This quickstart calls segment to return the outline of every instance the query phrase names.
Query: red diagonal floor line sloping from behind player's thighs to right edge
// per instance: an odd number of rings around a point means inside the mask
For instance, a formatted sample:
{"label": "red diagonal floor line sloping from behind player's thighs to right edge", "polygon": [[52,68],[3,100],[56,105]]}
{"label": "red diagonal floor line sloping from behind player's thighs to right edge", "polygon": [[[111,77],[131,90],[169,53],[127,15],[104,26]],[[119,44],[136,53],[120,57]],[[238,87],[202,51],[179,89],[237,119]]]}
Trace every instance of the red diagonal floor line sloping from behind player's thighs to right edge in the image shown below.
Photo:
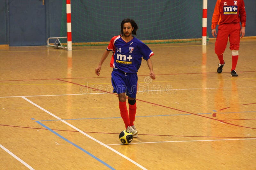
{"label": "red diagonal floor line sloping from behind player's thighs to right edge", "polygon": [[[69,83],[76,84],[76,85],[79,85],[79,86],[84,86],[84,87],[87,87],[87,88],[90,88],[90,89],[95,89],[95,88],[91,88],[91,87],[88,87],[88,86],[85,86],[85,85],[82,85],[82,84],[78,84],[78,83],[74,83],[74,82],[71,82],[71,81],[66,81],[66,80],[61,80],[61,79],[57,79],[57,80],[69,82]],[[99,91],[102,91],[102,92],[105,92],[105,93],[109,93],[109,94],[115,94],[115,95],[117,95],[116,93],[111,93],[111,92],[104,91],[104,90],[100,90],[100,89],[96,89],[96,90],[99,90]],[[164,105],[161,105],[161,104],[156,104],[156,103],[148,102],[148,101],[145,101],[145,100],[140,100],[140,99],[137,99],[137,98],[136,98],[136,100],[137,100],[137,101],[144,102],[144,103],[149,103],[149,104],[151,104],[151,105],[157,105],[157,106],[161,106],[161,107],[164,107],[164,108],[168,108],[168,109],[177,110],[177,111],[180,111],[180,112],[189,113],[189,114],[192,114],[192,115],[196,115],[196,116],[200,116],[200,117],[205,117],[205,118],[212,119],[212,120],[217,120],[217,121],[219,121],[219,122],[222,122],[222,123],[225,123],[225,124],[230,124],[230,125],[233,125],[233,126],[244,127],[244,128],[249,128],[249,129],[256,129],[256,128],[252,128],[252,127],[246,127],[246,126],[240,126],[240,125],[237,125],[237,124],[231,124],[231,123],[224,122],[224,121],[222,121],[222,120],[218,120],[218,119],[215,119],[215,118],[212,118],[212,117],[207,117],[207,116],[203,116],[203,115],[198,115],[198,114],[196,114],[196,113],[191,113],[191,112],[188,112],[188,111],[175,109],[175,108],[168,107],[168,106],[164,106]]]}

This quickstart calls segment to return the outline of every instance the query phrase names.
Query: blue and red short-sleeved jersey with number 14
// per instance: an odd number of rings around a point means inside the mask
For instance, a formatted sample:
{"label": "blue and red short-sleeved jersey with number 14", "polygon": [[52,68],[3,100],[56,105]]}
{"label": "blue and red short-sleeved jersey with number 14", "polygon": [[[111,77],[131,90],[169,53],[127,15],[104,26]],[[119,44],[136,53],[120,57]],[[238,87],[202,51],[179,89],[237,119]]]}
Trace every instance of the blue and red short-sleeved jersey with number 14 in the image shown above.
{"label": "blue and red short-sleeved jersey with number 14", "polygon": [[152,50],[136,37],[126,43],[121,38],[121,35],[115,36],[110,40],[107,50],[113,52],[110,67],[126,73],[137,73],[142,57],[144,60],[148,60],[154,55]]}

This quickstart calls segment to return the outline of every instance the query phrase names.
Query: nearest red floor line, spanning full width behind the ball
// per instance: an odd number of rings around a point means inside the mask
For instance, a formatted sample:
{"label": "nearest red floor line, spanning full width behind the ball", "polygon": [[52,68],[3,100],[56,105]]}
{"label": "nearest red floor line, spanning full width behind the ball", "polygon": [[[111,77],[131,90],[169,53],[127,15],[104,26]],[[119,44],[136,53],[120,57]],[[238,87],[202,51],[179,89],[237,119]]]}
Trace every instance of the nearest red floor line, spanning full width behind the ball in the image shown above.
{"label": "nearest red floor line, spanning full width behind the ball", "polygon": [[[33,127],[24,127],[24,126],[12,126],[6,124],[0,124],[0,126],[8,126],[8,127],[17,127],[17,128],[26,128],[26,129],[40,129],[40,130],[48,130],[44,128],[33,128]],[[79,132],[79,131],[70,131],[70,130],[61,130],[61,129],[52,129],[53,131],[68,131],[68,132]],[[107,133],[107,132],[90,132],[84,131],[85,133],[101,133],[101,134],[119,134],[119,133]],[[140,134],[147,136],[172,136],[172,137],[198,137],[198,138],[256,138],[256,137],[230,137],[230,136],[184,136],[184,135],[154,135],[154,134]]]}

